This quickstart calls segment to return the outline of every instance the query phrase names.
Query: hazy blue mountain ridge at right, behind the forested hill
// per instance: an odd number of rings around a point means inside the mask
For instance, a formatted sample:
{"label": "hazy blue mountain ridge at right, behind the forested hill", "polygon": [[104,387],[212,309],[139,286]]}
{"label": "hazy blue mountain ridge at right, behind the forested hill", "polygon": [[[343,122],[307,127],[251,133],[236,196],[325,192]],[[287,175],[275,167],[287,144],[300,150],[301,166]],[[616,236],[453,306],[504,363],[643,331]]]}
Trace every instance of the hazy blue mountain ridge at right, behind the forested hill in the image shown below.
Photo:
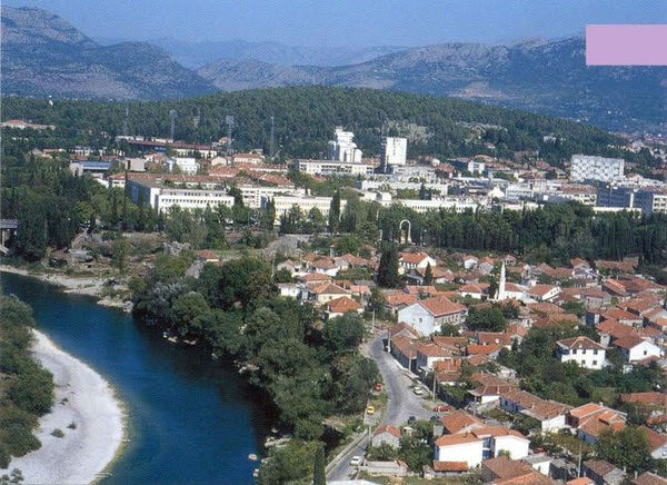
{"label": "hazy blue mountain ridge at right, behind the forested hill", "polygon": [[217,61],[197,71],[223,90],[292,85],[348,86],[455,96],[613,130],[667,132],[667,68],[587,67],[585,41],[511,47],[444,43],[342,67]]}

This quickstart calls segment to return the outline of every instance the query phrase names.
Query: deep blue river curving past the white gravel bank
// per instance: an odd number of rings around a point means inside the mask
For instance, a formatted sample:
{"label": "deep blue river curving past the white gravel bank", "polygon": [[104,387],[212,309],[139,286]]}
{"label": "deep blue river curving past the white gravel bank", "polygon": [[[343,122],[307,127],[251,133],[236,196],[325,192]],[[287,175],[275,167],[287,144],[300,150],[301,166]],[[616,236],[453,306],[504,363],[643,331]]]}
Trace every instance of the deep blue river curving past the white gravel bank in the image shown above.
{"label": "deep blue river curving past the white gravel bank", "polygon": [[38,328],[100,373],[128,412],[130,442],[104,484],[250,484],[270,426],[251,388],[205,353],[158,338],[122,311],[1,274]]}

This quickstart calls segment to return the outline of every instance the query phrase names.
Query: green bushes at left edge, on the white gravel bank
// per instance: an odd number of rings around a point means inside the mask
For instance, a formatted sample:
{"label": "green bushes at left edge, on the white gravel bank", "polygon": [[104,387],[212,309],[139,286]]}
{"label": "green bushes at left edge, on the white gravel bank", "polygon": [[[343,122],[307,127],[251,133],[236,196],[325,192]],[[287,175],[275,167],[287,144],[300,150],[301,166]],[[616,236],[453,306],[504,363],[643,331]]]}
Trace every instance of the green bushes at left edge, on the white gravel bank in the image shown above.
{"label": "green bushes at left edge, on the white gravel bank", "polygon": [[0,468],[41,446],[32,428],[53,404],[53,377],[30,355],[33,325],[28,305],[0,297]]}

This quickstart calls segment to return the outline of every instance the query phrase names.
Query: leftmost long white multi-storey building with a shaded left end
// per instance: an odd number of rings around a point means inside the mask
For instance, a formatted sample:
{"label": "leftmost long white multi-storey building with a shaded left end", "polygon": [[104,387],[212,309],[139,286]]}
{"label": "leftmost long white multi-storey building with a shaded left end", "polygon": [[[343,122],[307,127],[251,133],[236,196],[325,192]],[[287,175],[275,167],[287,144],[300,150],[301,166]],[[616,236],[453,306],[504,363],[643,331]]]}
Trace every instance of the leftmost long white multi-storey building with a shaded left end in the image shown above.
{"label": "leftmost long white multi-storey building with a shaded left end", "polygon": [[169,187],[152,180],[128,180],[127,190],[135,204],[147,204],[158,212],[167,212],[172,206],[181,209],[206,209],[233,206],[233,197],[225,189],[193,189]]}

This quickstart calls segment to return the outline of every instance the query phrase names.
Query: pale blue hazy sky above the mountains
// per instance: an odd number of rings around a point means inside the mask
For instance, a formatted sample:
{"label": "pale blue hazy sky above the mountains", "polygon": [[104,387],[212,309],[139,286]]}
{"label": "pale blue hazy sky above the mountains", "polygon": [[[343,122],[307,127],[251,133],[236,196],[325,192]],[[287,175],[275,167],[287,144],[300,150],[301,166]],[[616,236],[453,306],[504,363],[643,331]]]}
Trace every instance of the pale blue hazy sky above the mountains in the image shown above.
{"label": "pale blue hazy sky above the mountains", "polygon": [[667,0],[4,0],[90,37],[273,40],[302,46],[508,42],[583,33],[586,23],[667,23]]}

